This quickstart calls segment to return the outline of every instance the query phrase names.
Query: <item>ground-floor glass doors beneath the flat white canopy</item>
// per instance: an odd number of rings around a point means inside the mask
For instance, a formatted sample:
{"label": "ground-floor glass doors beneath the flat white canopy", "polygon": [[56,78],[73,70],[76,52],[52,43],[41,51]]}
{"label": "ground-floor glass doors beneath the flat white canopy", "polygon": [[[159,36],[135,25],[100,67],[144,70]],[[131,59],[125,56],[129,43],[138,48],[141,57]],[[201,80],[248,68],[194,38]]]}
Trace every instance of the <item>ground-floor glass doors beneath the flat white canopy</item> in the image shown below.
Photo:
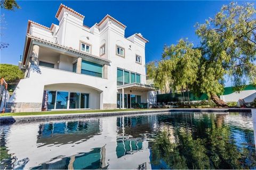
{"label": "ground-floor glass doors beneath the flat white canopy", "polygon": [[[122,94],[117,94],[117,108],[123,108]],[[124,94],[124,108],[133,108],[136,103],[141,103],[140,95]]]}

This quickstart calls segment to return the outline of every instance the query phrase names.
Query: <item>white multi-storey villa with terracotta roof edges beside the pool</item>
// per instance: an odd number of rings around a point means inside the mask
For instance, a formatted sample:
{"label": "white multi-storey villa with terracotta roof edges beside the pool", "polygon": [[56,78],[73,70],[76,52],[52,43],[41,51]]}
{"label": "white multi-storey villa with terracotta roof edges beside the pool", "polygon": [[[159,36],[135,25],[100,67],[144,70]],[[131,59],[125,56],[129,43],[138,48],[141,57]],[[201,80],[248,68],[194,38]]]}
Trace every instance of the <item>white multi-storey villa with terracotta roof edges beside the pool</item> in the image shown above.
{"label": "white multi-storey villa with terracotta roof edges beside the pool", "polygon": [[84,16],[60,4],[59,24],[28,21],[22,79],[6,112],[148,107],[154,89],[146,85],[145,45],[140,33],[106,15],[92,27]]}

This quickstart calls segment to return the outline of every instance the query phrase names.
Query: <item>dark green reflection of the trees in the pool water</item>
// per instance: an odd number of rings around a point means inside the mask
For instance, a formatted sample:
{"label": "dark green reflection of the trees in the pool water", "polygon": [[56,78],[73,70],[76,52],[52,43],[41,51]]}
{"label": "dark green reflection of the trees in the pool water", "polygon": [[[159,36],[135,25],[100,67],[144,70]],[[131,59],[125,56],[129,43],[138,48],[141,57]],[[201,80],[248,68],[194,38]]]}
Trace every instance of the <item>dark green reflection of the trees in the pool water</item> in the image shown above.
{"label": "dark green reflection of the trees in the pool water", "polygon": [[224,124],[224,116],[203,116],[186,120],[186,126],[174,125],[174,140],[170,140],[169,131],[162,131],[150,143],[151,164],[159,168],[164,162],[171,169],[255,168],[253,132],[242,130],[247,145],[237,146],[230,127]]}

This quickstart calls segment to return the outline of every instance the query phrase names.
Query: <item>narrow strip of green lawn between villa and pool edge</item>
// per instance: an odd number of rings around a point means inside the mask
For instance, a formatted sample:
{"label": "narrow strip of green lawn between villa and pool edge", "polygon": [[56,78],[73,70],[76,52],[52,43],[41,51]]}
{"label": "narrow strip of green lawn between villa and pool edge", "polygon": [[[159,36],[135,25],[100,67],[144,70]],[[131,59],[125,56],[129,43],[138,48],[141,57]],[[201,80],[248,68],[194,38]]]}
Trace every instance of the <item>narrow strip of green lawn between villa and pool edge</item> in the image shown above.
{"label": "narrow strip of green lawn between villa and pool edge", "polygon": [[79,110],[79,111],[46,111],[46,112],[21,112],[21,113],[4,113],[0,116],[34,116],[34,115],[52,115],[68,113],[95,113],[95,112],[123,112],[123,111],[145,111],[152,109],[110,109],[110,110]]}

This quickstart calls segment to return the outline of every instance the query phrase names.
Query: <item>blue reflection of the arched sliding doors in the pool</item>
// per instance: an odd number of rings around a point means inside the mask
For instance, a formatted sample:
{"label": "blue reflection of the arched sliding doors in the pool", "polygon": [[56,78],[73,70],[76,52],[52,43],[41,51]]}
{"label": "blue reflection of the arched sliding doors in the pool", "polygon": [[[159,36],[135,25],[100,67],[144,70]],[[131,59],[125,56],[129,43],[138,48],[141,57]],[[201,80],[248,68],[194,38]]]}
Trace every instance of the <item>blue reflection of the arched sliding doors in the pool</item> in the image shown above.
{"label": "blue reflection of the arched sliding doors in the pool", "polygon": [[100,122],[98,119],[90,121],[57,122],[39,125],[37,143],[40,146],[52,143],[62,144],[76,141],[84,141],[100,133]]}

